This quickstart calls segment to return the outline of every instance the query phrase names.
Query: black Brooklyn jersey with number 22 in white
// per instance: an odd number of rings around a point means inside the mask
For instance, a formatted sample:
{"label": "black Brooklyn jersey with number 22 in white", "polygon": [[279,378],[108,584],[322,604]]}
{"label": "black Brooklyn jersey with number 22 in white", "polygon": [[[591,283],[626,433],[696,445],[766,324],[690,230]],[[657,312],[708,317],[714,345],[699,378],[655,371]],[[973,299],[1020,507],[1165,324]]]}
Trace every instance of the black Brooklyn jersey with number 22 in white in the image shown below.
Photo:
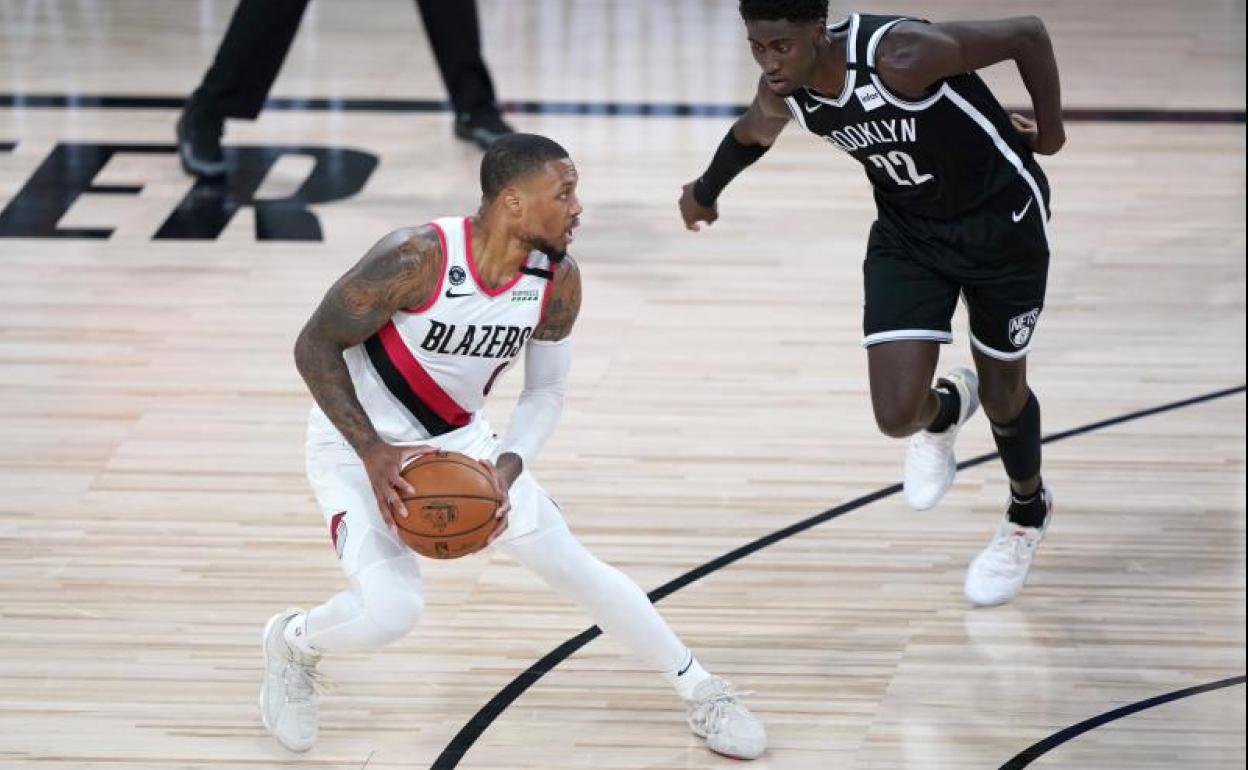
{"label": "black Brooklyn jersey with number 22 in white", "polygon": [[1047,218],[1031,149],[978,75],[947,77],[919,101],[884,85],[876,47],[904,20],[854,14],[834,25],[847,32],[845,87],[835,99],[810,89],[789,95],[794,120],[862,163],[880,203],[947,220],[1022,177]]}

